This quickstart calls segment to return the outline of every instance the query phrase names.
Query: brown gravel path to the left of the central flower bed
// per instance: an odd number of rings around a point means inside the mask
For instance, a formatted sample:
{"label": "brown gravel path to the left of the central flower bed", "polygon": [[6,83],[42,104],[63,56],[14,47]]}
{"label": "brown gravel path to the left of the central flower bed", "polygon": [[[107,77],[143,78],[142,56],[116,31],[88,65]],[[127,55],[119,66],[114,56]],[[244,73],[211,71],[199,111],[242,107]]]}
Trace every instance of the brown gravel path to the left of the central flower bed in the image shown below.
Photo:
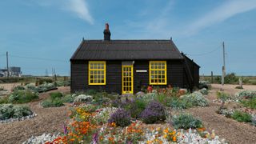
{"label": "brown gravel path to the left of the central flower bed", "polygon": [[[69,92],[69,87],[59,87],[58,90]],[[49,93],[40,94],[40,100],[37,102],[30,102],[27,105],[30,109],[38,114],[38,116],[30,119],[26,119],[21,122],[12,122],[7,124],[0,124],[0,143],[1,144],[14,144],[22,143],[27,138],[38,136],[43,133],[62,132],[62,124],[66,122],[68,106],[42,108],[39,102],[49,96]]]}

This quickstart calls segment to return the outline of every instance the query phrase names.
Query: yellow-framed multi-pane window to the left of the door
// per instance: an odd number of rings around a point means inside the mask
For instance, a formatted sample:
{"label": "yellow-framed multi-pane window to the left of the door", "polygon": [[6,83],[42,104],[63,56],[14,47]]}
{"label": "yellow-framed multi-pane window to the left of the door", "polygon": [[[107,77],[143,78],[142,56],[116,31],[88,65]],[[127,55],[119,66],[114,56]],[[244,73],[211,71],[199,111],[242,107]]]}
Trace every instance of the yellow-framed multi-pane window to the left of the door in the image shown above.
{"label": "yellow-framed multi-pane window to the left of the door", "polygon": [[89,85],[106,85],[106,62],[89,61]]}

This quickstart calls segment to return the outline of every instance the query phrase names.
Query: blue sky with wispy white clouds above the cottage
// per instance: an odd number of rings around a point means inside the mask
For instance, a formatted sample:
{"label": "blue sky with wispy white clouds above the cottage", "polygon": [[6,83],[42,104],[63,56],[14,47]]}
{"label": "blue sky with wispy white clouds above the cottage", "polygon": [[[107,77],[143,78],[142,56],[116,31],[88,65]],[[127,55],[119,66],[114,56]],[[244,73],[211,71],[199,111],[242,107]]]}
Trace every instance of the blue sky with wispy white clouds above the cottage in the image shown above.
{"label": "blue sky with wispy white clouds above the cottage", "polygon": [[[200,74],[256,75],[256,0],[2,0],[0,68],[23,74],[70,74],[70,57],[85,39],[170,39],[197,62]],[[46,72],[47,71],[47,72]]]}

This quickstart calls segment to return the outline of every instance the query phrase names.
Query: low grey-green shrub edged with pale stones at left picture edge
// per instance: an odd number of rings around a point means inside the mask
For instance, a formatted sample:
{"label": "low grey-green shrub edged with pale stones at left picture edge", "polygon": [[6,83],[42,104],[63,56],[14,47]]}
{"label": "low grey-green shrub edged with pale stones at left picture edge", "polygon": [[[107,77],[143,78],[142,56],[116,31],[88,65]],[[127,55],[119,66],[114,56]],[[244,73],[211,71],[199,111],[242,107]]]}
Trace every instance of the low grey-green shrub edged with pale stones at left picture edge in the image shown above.
{"label": "low grey-green shrub edged with pale stones at left picture edge", "polygon": [[9,118],[22,118],[33,114],[27,106],[14,106],[12,104],[0,105],[0,120],[6,120]]}

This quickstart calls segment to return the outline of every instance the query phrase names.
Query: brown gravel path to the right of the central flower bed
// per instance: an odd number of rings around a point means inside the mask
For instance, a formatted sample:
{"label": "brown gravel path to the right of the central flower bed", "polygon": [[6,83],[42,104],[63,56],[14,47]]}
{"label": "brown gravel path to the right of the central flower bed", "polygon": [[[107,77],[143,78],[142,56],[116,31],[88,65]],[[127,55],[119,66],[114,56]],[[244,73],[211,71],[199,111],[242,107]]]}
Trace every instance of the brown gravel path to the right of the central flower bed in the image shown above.
{"label": "brown gravel path to the right of the central flower bed", "polygon": [[[224,91],[230,94],[235,94],[239,91],[234,89],[233,85],[224,86]],[[248,87],[247,90],[256,90],[256,86]],[[212,85],[212,90],[207,98],[210,99],[210,106],[196,107],[186,110],[190,114],[201,118],[206,129],[215,130],[220,138],[225,138],[228,142],[234,144],[255,144],[256,143],[256,127],[250,124],[237,122],[234,119],[226,118],[220,114],[216,114],[216,110],[220,105],[214,104],[212,100],[217,98],[216,91],[220,90],[221,85]]]}

